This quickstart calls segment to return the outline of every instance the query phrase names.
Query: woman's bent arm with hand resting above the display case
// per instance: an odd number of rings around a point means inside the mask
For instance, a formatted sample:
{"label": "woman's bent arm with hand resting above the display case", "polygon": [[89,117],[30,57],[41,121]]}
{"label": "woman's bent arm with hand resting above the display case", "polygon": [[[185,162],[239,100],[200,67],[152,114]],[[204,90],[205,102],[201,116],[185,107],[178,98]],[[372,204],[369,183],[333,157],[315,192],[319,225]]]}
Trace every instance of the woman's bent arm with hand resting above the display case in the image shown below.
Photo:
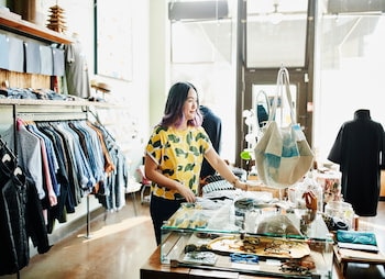
{"label": "woman's bent arm with hand resting above the display case", "polygon": [[148,155],[146,155],[144,158],[144,175],[147,179],[157,183],[158,186],[177,190],[186,199],[187,202],[196,201],[196,196],[190,188],[185,187],[178,181],[175,181],[162,175],[157,169],[157,164]]}

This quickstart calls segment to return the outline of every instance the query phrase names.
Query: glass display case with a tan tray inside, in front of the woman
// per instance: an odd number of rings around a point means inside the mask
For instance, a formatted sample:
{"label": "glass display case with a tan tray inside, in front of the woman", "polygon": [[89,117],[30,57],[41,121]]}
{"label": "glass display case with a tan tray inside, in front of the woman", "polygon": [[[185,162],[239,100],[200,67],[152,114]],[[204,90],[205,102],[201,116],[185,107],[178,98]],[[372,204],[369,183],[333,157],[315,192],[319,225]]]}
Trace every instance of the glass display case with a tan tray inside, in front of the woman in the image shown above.
{"label": "glass display case with a tan tray inside, in front of the woman", "polygon": [[331,278],[332,244],[320,212],[250,196],[199,199],[182,204],[162,226],[161,263],[257,276]]}

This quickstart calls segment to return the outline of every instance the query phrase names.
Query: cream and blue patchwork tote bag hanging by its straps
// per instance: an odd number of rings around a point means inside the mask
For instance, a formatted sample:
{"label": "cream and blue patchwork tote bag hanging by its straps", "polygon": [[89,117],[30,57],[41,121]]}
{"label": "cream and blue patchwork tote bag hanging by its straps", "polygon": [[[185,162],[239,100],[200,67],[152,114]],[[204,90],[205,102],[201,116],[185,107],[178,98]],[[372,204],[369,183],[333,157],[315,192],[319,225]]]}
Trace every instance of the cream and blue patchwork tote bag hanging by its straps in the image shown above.
{"label": "cream and blue patchwork tote bag hanging by its straps", "polygon": [[[290,124],[278,124],[276,109],[278,97],[285,89],[290,110]],[[280,93],[279,93],[280,92]],[[287,188],[300,180],[312,166],[314,153],[306,141],[300,125],[296,123],[286,68],[277,77],[277,92],[263,136],[255,146],[255,164],[258,178],[275,188]]]}

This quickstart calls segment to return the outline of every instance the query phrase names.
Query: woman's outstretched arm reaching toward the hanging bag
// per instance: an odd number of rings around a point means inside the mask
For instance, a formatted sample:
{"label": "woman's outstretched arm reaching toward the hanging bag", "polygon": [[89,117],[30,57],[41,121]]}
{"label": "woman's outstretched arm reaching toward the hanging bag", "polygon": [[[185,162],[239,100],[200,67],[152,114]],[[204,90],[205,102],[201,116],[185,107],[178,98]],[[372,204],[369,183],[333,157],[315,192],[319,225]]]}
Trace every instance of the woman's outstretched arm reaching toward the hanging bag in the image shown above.
{"label": "woman's outstretched arm reaching toward the hanging bag", "polygon": [[239,177],[231,171],[226,161],[213,148],[210,148],[205,154],[205,158],[210,163],[211,167],[213,167],[226,180],[232,183],[235,188],[248,191],[248,185],[240,181]]}

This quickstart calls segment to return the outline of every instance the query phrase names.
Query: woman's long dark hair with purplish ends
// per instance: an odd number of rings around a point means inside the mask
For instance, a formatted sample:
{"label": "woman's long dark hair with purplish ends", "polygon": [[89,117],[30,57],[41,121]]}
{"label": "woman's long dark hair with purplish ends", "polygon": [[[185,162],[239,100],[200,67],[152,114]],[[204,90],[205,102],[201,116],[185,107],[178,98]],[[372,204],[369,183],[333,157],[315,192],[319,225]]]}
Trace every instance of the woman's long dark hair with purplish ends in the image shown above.
{"label": "woman's long dark hair with purplish ends", "polygon": [[[185,120],[183,114],[183,107],[187,100],[188,91],[193,88],[197,93],[197,89],[189,82],[177,82],[168,91],[164,115],[161,122],[162,126],[169,127],[172,125],[179,126]],[[197,113],[193,120],[187,122],[189,126],[200,126],[202,123],[202,115],[199,111],[199,98],[197,100]]]}

